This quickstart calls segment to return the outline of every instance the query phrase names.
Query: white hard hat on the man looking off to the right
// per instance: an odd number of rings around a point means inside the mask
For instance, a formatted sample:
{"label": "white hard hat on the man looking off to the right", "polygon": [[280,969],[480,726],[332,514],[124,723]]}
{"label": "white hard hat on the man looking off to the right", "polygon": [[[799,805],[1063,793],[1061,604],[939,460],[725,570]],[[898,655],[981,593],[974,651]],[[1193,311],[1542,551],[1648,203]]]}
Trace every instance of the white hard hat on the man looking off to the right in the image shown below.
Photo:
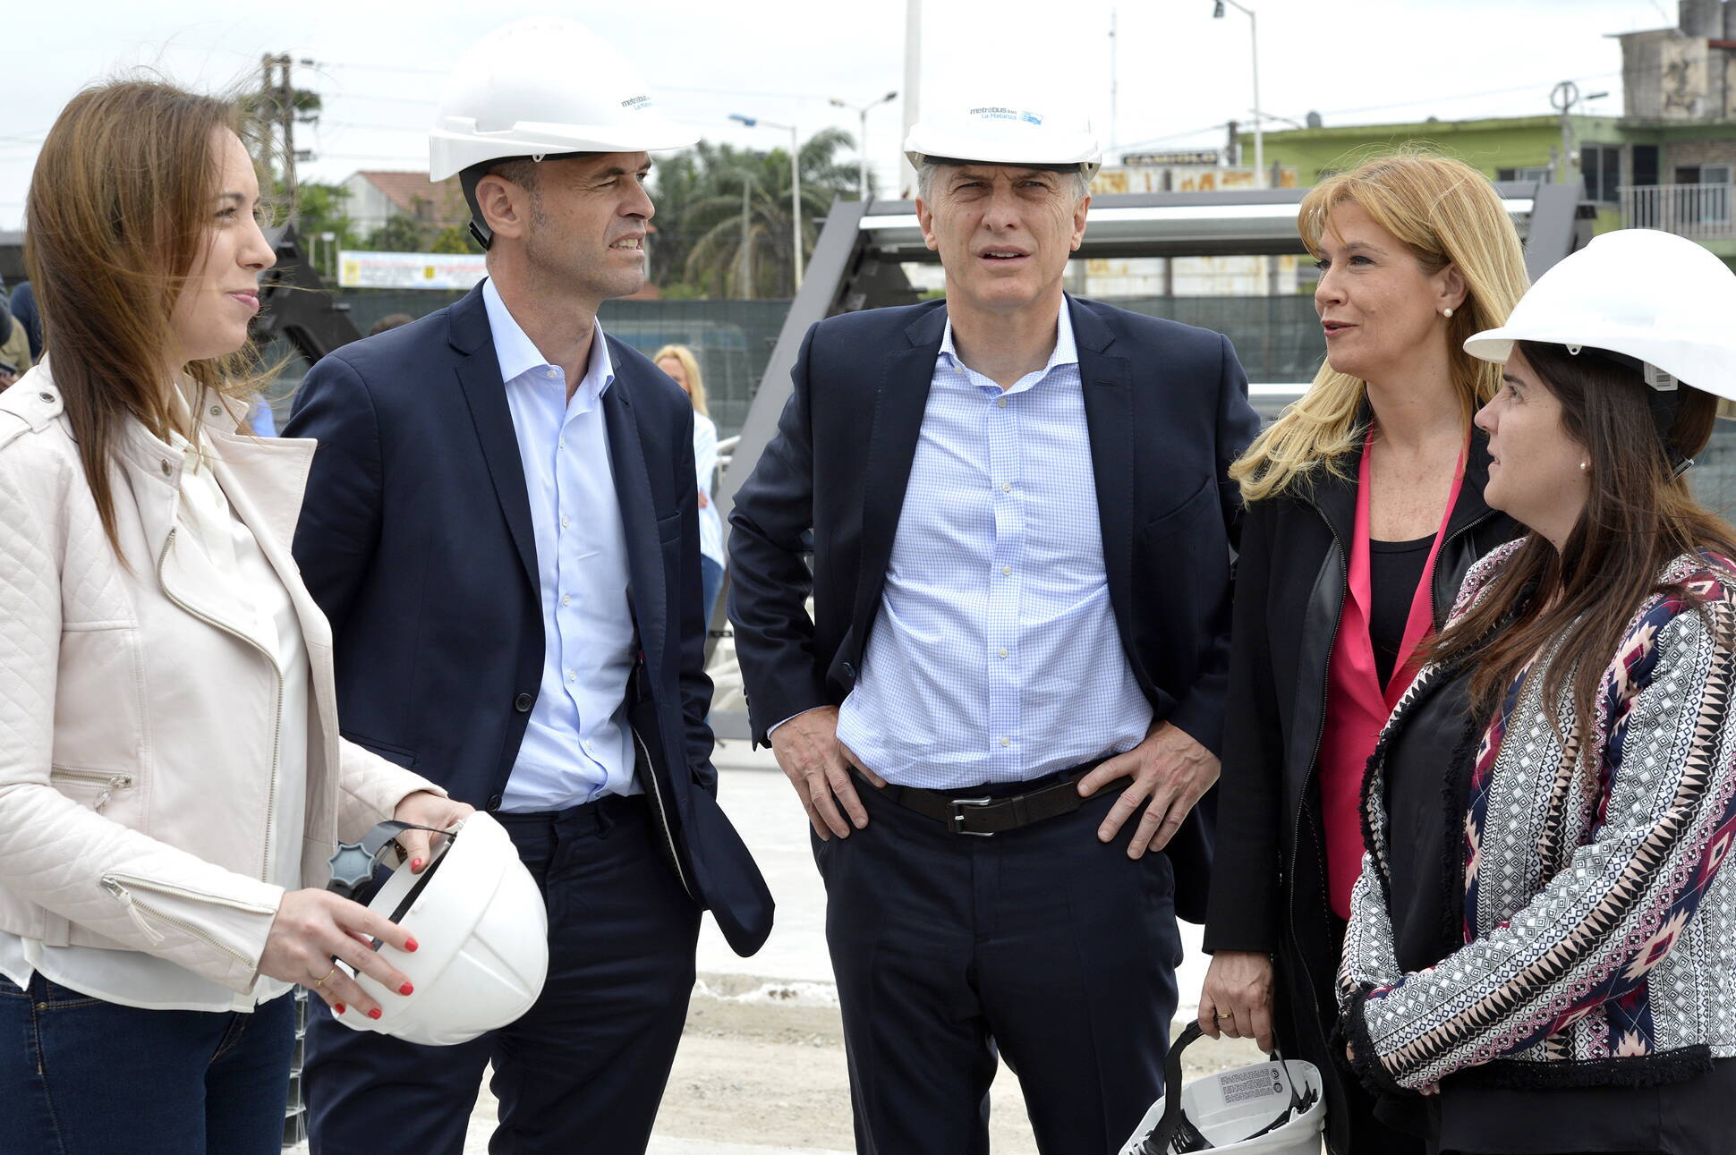
{"label": "white hard hat on the man looking off to the right", "polygon": [[429,132],[429,179],[507,156],[654,153],[698,141],[621,52],[583,24],[524,19],[460,57]]}

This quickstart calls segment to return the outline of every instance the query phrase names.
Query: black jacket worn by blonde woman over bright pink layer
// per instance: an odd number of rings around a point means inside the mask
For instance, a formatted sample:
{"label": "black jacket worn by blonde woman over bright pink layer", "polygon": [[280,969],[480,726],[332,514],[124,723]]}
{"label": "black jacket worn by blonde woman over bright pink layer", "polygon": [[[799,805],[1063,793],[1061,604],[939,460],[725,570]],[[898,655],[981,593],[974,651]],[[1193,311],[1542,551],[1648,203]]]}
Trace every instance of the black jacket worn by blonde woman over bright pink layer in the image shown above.
{"label": "black jacket worn by blonde woman over bright pink layer", "polygon": [[[1326,905],[1316,759],[1326,714],[1326,667],[1349,592],[1361,453],[1345,478],[1248,505],[1236,563],[1224,776],[1205,948],[1272,955],[1279,1046],[1326,1077],[1328,1145],[1349,1152],[1344,1047],[1332,990],[1338,931]],[[1465,479],[1436,558],[1439,627],[1477,558],[1521,533],[1483,502],[1488,438],[1472,431]]]}

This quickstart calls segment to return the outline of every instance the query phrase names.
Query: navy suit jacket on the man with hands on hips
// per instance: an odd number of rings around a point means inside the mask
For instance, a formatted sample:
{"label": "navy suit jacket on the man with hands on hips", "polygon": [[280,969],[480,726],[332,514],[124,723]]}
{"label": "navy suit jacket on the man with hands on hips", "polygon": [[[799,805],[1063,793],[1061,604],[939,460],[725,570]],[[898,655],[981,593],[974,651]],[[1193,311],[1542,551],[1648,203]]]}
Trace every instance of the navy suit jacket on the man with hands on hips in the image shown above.
{"label": "navy suit jacket on the man with hands on hips", "polygon": [[[1073,297],[1066,307],[1123,651],[1156,717],[1219,752],[1241,509],[1224,471],[1259,431],[1246,377],[1219,333]],[[944,327],[936,300],[835,316],[802,342],[778,436],[729,518],[729,617],[757,742],[856,683]],[[1168,849],[1177,912],[1196,922],[1212,804]]]}

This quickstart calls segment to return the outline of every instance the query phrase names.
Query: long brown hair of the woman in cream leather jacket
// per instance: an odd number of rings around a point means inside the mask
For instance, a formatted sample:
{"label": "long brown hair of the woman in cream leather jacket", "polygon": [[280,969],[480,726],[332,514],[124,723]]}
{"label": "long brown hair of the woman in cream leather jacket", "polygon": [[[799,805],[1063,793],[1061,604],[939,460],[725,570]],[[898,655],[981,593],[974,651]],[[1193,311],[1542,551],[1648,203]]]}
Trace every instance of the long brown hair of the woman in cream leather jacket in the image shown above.
{"label": "long brown hair of the woman in cream leather jacket", "polygon": [[[109,544],[109,460],[127,420],[167,439],[175,300],[208,241],[222,130],[245,141],[234,102],[160,80],[75,96],[42,142],[24,200],[24,267],[85,481]],[[253,389],[252,349],[193,361],[200,386]],[[191,434],[191,429],[182,429]]]}

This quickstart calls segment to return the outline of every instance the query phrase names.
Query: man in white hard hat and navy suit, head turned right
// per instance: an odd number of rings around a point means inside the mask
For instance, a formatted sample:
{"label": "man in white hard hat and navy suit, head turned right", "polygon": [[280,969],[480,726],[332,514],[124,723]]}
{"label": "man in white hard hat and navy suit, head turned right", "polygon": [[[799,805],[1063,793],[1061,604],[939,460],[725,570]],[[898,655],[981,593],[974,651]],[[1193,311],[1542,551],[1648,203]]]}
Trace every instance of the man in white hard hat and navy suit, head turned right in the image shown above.
{"label": "man in white hard hat and navy suit, head turned right", "polygon": [[713,797],[693,406],[595,320],[644,285],[648,153],[693,139],[571,21],[484,36],[429,175],[462,177],[488,280],[297,394],[286,432],[319,450],[295,556],[344,729],[490,811],[549,914],[542,995],[505,1028],[432,1047],[316,1018],[323,1155],[457,1155],[486,1065],[491,1150],[642,1152],[700,912],[741,954],[771,929]]}

